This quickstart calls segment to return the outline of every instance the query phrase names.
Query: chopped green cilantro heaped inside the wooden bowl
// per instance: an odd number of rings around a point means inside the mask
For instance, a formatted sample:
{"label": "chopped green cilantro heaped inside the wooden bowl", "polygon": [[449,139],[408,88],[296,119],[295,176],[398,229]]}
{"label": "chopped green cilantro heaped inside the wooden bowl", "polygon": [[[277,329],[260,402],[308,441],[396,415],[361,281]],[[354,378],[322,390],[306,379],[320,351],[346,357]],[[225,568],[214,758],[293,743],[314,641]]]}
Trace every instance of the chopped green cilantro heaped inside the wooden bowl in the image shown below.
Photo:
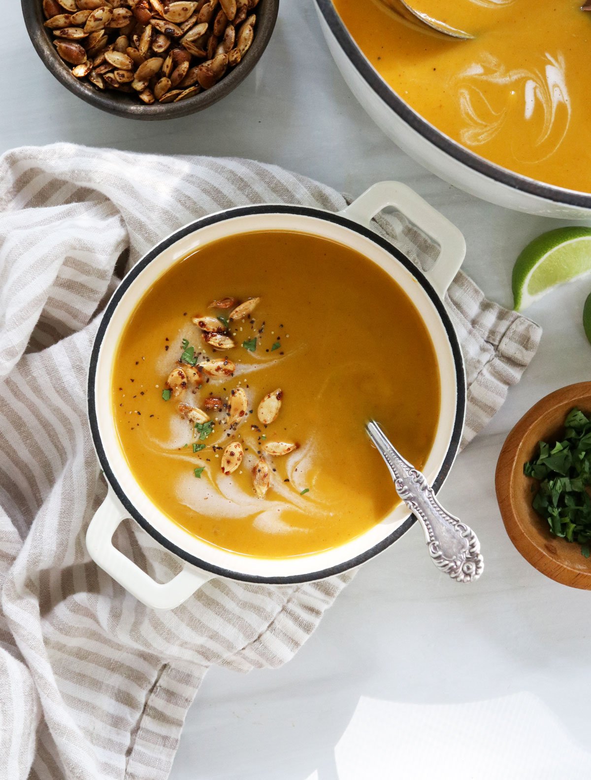
{"label": "chopped green cilantro heaped inside the wooden bowl", "polygon": [[523,466],[538,480],[533,509],[547,519],[551,533],[582,545],[591,542],[591,420],[578,409],[568,413],[562,441],[540,441],[539,454]]}

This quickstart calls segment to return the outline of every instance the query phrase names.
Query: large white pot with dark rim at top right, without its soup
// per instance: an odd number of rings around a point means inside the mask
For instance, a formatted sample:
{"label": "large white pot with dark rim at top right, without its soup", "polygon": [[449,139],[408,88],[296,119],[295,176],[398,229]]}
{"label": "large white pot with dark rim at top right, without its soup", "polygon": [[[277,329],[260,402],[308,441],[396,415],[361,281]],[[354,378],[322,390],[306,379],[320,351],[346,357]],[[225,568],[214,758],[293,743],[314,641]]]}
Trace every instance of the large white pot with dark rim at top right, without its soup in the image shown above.
{"label": "large white pot with dark rim at top right, without its soup", "polygon": [[[369,2],[369,0],[366,0]],[[332,5],[315,0],[322,33],[344,80],[384,133],[441,179],[498,206],[566,219],[591,217],[591,194],[521,176],[468,151],[410,108],[365,58]]]}

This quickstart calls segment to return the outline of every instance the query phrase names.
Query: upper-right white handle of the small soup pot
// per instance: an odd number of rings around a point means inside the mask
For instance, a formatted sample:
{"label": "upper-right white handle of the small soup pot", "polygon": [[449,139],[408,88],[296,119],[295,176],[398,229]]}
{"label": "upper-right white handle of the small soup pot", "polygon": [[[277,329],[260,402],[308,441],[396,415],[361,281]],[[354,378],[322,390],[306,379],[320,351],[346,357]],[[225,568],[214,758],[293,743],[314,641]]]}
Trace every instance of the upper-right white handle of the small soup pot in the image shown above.
{"label": "upper-right white handle of the small soup pot", "polygon": [[443,298],[466,256],[466,241],[456,225],[414,190],[401,182],[378,182],[365,190],[350,206],[339,211],[339,214],[369,228],[375,215],[389,206],[396,208],[438,243],[439,256],[433,268],[425,272],[425,276]]}

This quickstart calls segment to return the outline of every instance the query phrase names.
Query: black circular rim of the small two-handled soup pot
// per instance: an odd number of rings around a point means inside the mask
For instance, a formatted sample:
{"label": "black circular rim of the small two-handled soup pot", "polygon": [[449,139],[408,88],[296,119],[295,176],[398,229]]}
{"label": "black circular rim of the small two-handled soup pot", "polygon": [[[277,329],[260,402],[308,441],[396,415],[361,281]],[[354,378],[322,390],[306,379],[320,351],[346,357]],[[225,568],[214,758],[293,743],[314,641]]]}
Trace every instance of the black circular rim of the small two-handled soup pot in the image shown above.
{"label": "black circular rim of the small two-handled soup pot", "polygon": [[[441,323],[445,328],[447,337],[449,339],[449,344],[452,349],[452,356],[453,356],[454,367],[456,371],[456,381],[457,381],[456,417],[454,420],[452,437],[451,437],[451,441],[449,442],[449,447],[447,449],[447,452],[445,453],[445,458],[443,460],[443,463],[441,464],[441,469],[439,470],[439,473],[433,483],[433,487],[436,491],[439,488],[441,488],[441,485],[445,481],[445,477],[447,477],[449,470],[452,467],[452,463],[456,458],[456,453],[459,448],[459,442],[462,437],[464,413],[466,410],[466,381],[464,378],[462,351],[459,346],[456,331],[453,328],[452,321],[449,319],[449,314],[447,314],[443,302],[441,301],[441,298],[439,298],[438,294],[435,293],[433,287],[427,281],[427,278],[424,276],[424,274],[421,271],[419,271],[419,269],[405,255],[403,255],[399,250],[397,250],[395,246],[392,246],[391,243],[389,243],[385,239],[382,239],[375,232],[371,231],[368,228],[365,228],[363,225],[357,224],[357,222],[352,222],[350,219],[343,218],[336,214],[332,214],[329,211],[322,211],[320,209],[309,208],[304,206],[273,206],[273,205],[244,206],[244,207],[236,207],[236,208],[228,209],[227,211],[221,211],[217,214],[200,218],[198,220],[195,220],[195,222],[190,222],[188,225],[185,225],[185,227],[175,231],[170,236],[167,236],[167,238],[160,241],[160,243],[154,246],[153,249],[150,250],[150,252],[144,255],[144,257],[142,257],[142,259],[138,261],[137,264],[135,264],[132,270],[128,272],[125,278],[123,278],[121,284],[118,286],[118,289],[115,291],[109,303],[107,303],[107,307],[104,310],[103,317],[100,321],[97,335],[95,337],[94,344],[93,344],[93,350],[90,356],[90,369],[89,369],[89,376],[88,376],[88,416],[90,420],[90,430],[92,431],[94,447],[97,451],[97,456],[100,461],[100,466],[104,471],[104,476],[107,478],[108,483],[111,485],[111,488],[113,489],[115,495],[117,495],[117,498],[119,499],[121,504],[125,507],[125,509],[129,513],[129,516],[135,519],[135,521],[139,523],[139,525],[143,528],[143,530],[145,530],[148,534],[150,534],[150,536],[153,537],[156,541],[160,542],[160,544],[162,544],[164,548],[174,553],[174,555],[178,555],[178,558],[181,558],[191,563],[193,566],[197,566],[199,569],[204,569],[205,571],[210,572],[216,576],[226,577],[230,580],[239,580],[241,582],[249,582],[249,583],[287,585],[287,584],[311,582],[314,580],[322,580],[325,577],[332,576],[335,574],[341,574],[343,572],[348,571],[349,569],[354,569],[355,566],[360,566],[361,563],[364,563],[365,561],[368,561],[370,558],[373,558],[375,555],[378,555],[378,553],[382,552],[386,548],[389,548],[391,544],[399,540],[399,538],[402,537],[403,534],[405,534],[406,531],[409,530],[410,527],[417,522],[416,518],[414,518],[412,515],[407,517],[403,521],[403,523],[401,523],[399,527],[396,528],[396,530],[392,531],[392,534],[389,534],[388,537],[385,537],[385,539],[383,539],[378,544],[375,544],[373,547],[369,548],[368,550],[364,551],[363,553],[361,553],[361,555],[357,555],[355,558],[350,558],[350,560],[348,561],[339,563],[336,566],[331,566],[327,569],[319,570],[317,572],[311,572],[308,574],[298,574],[294,576],[267,577],[267,576],[249,575],[241,572],[234,572],[230,569],[223,569],[220,566],[214,566],[212,563],[209,563],[208,561],[204,561],[201,558],[196,558],[194,555],[191,555],[186,550],[183,550],[182,548],[178,548],[175,544],[173,544],[166,537],[162,536],[162,534],[160,534],[155,528],[153,528],[153,526],[150,524],[150,521],[147,520],[144,516],[142,516],[142,514],[137,509],[135,509],[135,506],[132,504],[132,502],[129,501],[127,495],[125,495],[125,491],[123,490],[123,488],[121,488],[121,484],[119,484],[119,480],[117,476],[114,474],[113,470],[111,469],[111,464],[109,463],[107,454],[104,451],[102,440],[100,438],[100,431],[98,427],[97,410],[96,410],[95,383],[97,378],[97,363],[100,354],[100,347],[103,343],[104,335],[107,330],[107,325],[111,321],[111,317],[113,316],[115,309],[118,307],[118,304],[121,301],[121,298],[123,297],[124,293],[127,291],[129,286],[132,285],[132,283],[143,271],[143,269],[146,268],[148,264],[150,264],[156,257],[158,257],[158,255],[160,255],[169,246],[177,242],[179,239],[188,236],[190,233],[196,232],[197,230],[204,228],[207,225],[214,225],[217,222],[224,222],[228,219],[233,219],[236,217],[244,217],[244,216],[248,217],[248,216],[259,215],[259,214],[303,215],[315,219],[322,219],[325,220],[326,222],[332,222],[336,225],[341,225],[344,228],[354,230],[357,233],[360,233],[361,236],[364,236],[365,238],[369,239],[373,243],[378,244],[378,246],[380,246],[388,254],[392,255],[392,257],[394,257],[396,261],[399,261],[399,263],[402,264],[407,271],[410,271],[413,277],[416,278],[417,282],[424,289],[424,292],[431,300],[431,303],[433,303],[441,319]],[[172,522],[173,521],[171,520],[171,523]]]}

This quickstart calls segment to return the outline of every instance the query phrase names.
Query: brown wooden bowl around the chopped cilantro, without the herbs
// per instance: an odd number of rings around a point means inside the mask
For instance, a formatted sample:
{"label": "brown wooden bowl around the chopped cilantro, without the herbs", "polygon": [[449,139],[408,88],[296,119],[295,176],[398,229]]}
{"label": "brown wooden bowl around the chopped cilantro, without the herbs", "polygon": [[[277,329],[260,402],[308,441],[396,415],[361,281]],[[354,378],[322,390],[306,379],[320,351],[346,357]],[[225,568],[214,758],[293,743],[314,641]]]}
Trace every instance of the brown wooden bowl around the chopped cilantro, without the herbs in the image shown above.
{"label": "brown wooden bowl around the chopped cilantro, without the herbs", "polygon": [[591,382],[568,385],[538,401],[508,435],[495,484],[509,538],[526,561],[551,580],[591,590],[591,558],[581,554],[580,544],[550,533],[547,520],[532,507],[535,480],[523,473],[523,464],[537,455],[539,441],[561,438],[565,417],[575,406],[591,413]]}

